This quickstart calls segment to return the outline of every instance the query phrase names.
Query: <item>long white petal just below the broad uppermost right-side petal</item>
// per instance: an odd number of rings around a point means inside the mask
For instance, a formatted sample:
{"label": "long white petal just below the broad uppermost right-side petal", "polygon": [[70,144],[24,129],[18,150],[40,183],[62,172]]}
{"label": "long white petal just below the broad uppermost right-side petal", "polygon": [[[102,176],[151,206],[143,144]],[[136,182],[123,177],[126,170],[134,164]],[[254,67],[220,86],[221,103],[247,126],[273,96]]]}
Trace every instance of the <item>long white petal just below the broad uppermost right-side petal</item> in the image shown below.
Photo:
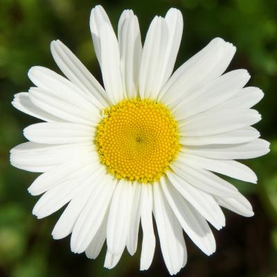
{"label": "long white petal just below the broad uppermost right-side petal", "polygon": [[[184,120],[216,107],[234,96],[250,78],[244,69],[230,71],[190,94],[172,109],[176,120]],[[236,107],[236,106],[234,106]]]}

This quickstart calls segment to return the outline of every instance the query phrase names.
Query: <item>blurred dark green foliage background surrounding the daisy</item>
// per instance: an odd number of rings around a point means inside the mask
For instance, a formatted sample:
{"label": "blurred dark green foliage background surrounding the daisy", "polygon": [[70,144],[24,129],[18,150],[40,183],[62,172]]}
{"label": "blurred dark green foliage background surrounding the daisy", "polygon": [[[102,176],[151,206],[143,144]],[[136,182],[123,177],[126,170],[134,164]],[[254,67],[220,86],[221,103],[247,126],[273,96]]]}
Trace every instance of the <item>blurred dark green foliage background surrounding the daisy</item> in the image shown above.
{"label": "blurred dark green foliage background surrounding the daisy", "polygon": [[[37,220],[31,209],[37,199],[27,186],[35,175],[12,168],[8,151],[24,141],[22,129],[30,118],[10,105],[12,96],[28,91],[30,66],[57,70],[49,51],[61,39],[100,80],[89,33],[89,12],[96,4],[107,10],[114,27],[125,8],[139,16],[141,33],[154,15],[179,8],[184,15],[184,38],[177,66],[213,37],[237,46],[230,69],[247,68],[250,85],[265,91],[257,105],[262,137],[271,141],[271,153],[247,162],[258,174],[258,186],[232,180],[253,204],[249,219],[226,212],[227,228],[215,231],[217,252],[207,258],[189,239],[188,265],[179,276],[277,276],[277,1],[276,0],[1,0],[0,1],[0,276],[167,276],[159,244],[150,271],[139,271],[139,253],[123,255],[112,271],[102,269],[105,253],[96,261],[71,253],[69,239],[53,241],[51,229],[60,213]],[[275,138],[275,139],[274,139]],[[140,250],[140,249],[139,249]],[[138,251],[139,252],[139,251]]]}

